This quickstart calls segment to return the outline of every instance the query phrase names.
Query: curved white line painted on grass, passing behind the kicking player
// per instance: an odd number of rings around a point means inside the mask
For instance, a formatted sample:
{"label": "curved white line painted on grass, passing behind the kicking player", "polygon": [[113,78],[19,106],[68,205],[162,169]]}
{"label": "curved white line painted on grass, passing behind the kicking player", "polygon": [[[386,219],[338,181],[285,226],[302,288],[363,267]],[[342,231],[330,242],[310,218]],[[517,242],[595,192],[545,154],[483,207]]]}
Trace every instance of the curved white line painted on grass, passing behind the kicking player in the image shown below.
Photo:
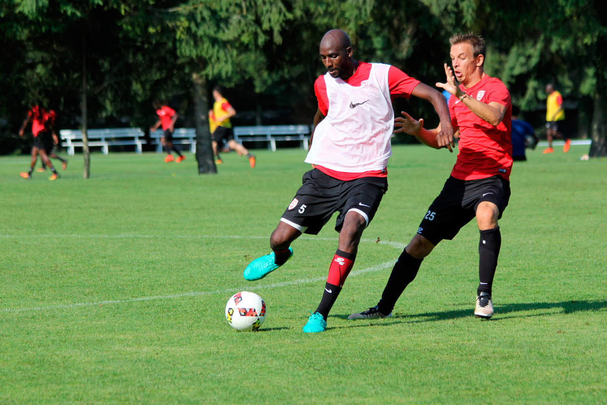
{"label": "curved white line painted on grass, passing behind the kicking player", "polygon": [[[12,235],[0,235],[0,237],[29,237],[29,236],[12,236]],[[38,237],[44,237],[38,235]],[[120,237],[160,237],[154,235],[64,235],[57,236],[53,235],[53,237],[83,237],[83,238],[120,238]],[[226,238],[226,239],[262,239],[262,237],[255,236],[178,236],[178,237],[191,237],[191,238]],[[266,239],[267,237],[263,237]],[[337,238],[319,238],[319,237],[302,237],[300,239],[305,240],[333,240],[337,242]],[[371,239],[361,239],[361,242],[375,242],[381,245],[388,245],[393,248],[402,249],[404,248],[404,244],[396,243],[396,242],[383,242]],[[392,267],[395,264],[396,260],[391,260],[388,262],[384,262],[382,264],[378,264],[375,266],[362,268],[361,270],[354,270],[350,273],[350,276],[358,276],[359,274],[371,273],[374,271],[383,270],[384,268]],[[284,281],[273,284],[256,284],[256,288],[280,288],[280,287],[289,287],[291,285],[299,285],[299,284],[308,284],[312,282],[324,281],[327,277],[314,277],[308,279],[298,279],[293,281]],[[44,307],[26,307],[26,308],[2,308],[0,309],[0,313],[16,313],[16,312],[33,312],[33,311],[46,311],[46,310],[58,310],[58,309],[67,309],[67,308],[80,308],[80,307],[96,307],[100,305],[118,305],[118,304],[129,304],[131,302],[142,302],[142,301],[157,301],[161,299],[175,299],[175,298],[184,298],[184,297],[194,297],[194,296],[202,296],[202,295],[211,295],[211,294],[220,294],[220,293],[236,293],[238,291],[244,291],[247,289],[251,289],[251,284],[243,285],[242,287],[234,287],[234,288],[225,288],[222,290],[214,290],[214,291],[192,291],[190,293],[180,293],[180,294],[168,294],[168,295],[160,295],[160,296],[148,296],[148,297],[139,297],[139,298],[131,298],[131,299],[112,299],[105,301],[94,301],[94,302],[74,302],[73,304],[59,304],[59,305],[47,305]]]}

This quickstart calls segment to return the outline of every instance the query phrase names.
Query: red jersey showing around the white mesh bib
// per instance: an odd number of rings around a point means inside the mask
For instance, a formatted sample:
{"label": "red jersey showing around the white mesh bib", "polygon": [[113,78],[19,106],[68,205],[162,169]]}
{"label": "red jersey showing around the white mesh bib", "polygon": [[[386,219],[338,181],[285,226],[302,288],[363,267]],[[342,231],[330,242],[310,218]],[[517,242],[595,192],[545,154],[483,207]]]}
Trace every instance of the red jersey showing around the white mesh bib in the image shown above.
{"label": "red jersey showing around the white mesh bib", "polygon": [[[358,68],[354,72],[351,77],[344,80],[345,83],[350,84],[350,86],[358,87],[361,86],[361,83],[365,80],[369,79],[369,75],[371,72],[371,64],[366,62],[359,62]],[[390,66],[388,68],[388,88],[390,90],[390,98],[394,100],[398,97],[411,97],[411,93],[415,86],[417,86],[419,80],[410,77],[406,73],[402,72],[402,70],[398,69],[398,67]],[[318,101],[318,109],[323,115],[327,115],[329,111],[329,100],[327,96],[327,85],[325,84],[324,75],[319,76],[314,82],[314,94],[316,94],[316,99]],[[377,171],[366,171],[360,173],[351,173],[351,172],[342,172],[331,170],[325,168],[323,166],[316,166],[317,169],[324,172],[331,177],[339,180],[353,180],[359,179],[361,177],[386,177],[387,169],[377,170]]]}

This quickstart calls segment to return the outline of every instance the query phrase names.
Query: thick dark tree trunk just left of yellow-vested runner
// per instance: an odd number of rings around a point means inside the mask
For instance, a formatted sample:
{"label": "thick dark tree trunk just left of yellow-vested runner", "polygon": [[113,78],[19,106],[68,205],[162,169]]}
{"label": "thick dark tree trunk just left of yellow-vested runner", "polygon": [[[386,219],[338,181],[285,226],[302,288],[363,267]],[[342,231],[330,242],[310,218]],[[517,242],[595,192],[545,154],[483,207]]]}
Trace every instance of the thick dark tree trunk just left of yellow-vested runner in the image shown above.
{"label": "thick dark tree trunk just left of yellow-vested runner", "polygon": [[196,125],[196,160],[198,174],[216,174],[217,166],[213,159],[211,132],[209,132],[209,100],[207,97],[206,78],[192,73],[194,90],[194,114]]}

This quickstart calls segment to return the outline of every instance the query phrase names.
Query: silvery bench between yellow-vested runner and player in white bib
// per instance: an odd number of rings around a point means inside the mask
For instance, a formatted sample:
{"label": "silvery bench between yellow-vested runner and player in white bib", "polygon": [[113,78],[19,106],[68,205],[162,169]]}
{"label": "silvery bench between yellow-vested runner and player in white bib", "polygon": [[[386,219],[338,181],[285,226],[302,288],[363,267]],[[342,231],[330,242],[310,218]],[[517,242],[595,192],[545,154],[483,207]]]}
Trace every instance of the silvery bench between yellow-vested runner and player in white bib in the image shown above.
{"label": "silvery bench between yellow-vested runner and player in white bib", "polygon": [[268,149],[276,151],[277,141],[299,141],[308,149],[310,127],[307,125],[271,125],[271,126],[237,126],[234,127],[234,140],[239,143],[263,141]]}

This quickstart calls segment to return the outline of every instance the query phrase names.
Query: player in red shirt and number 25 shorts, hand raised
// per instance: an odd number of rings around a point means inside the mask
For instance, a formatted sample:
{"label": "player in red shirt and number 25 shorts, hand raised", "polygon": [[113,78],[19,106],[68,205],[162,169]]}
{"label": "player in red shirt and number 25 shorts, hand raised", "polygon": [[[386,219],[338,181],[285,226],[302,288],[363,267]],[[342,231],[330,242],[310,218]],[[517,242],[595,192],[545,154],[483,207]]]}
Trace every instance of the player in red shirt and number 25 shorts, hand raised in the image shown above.
{"label": "player in red shirt and number 25 shorts, hand raised", "polygon": [[[477,35],[454,35],[449,39],[453,69],[444,65],[453,129],[459,132],[459,154],[443,191],[428,208],[417,234],[405,247],[392,269],[381,299],[375,307],[353,313],[348,319],[385,318],[405,287],[413,281],[424,257],[443,239],[453,239],[476,217],[480,231],[479,278],[474,315],[493,316],[491,298],[493,276],[500,254],[498,219],[510,197],[512,143],[510,142],[512,104],[510,93],[499,79],[483,71],[485,44]],[[458,86],[459,81],[459,86]],[[407,113],[396,118],[395,132],[418,137],[422,143],[440,148],[435,140],[439,128],[423,128],[423,120]]]}

